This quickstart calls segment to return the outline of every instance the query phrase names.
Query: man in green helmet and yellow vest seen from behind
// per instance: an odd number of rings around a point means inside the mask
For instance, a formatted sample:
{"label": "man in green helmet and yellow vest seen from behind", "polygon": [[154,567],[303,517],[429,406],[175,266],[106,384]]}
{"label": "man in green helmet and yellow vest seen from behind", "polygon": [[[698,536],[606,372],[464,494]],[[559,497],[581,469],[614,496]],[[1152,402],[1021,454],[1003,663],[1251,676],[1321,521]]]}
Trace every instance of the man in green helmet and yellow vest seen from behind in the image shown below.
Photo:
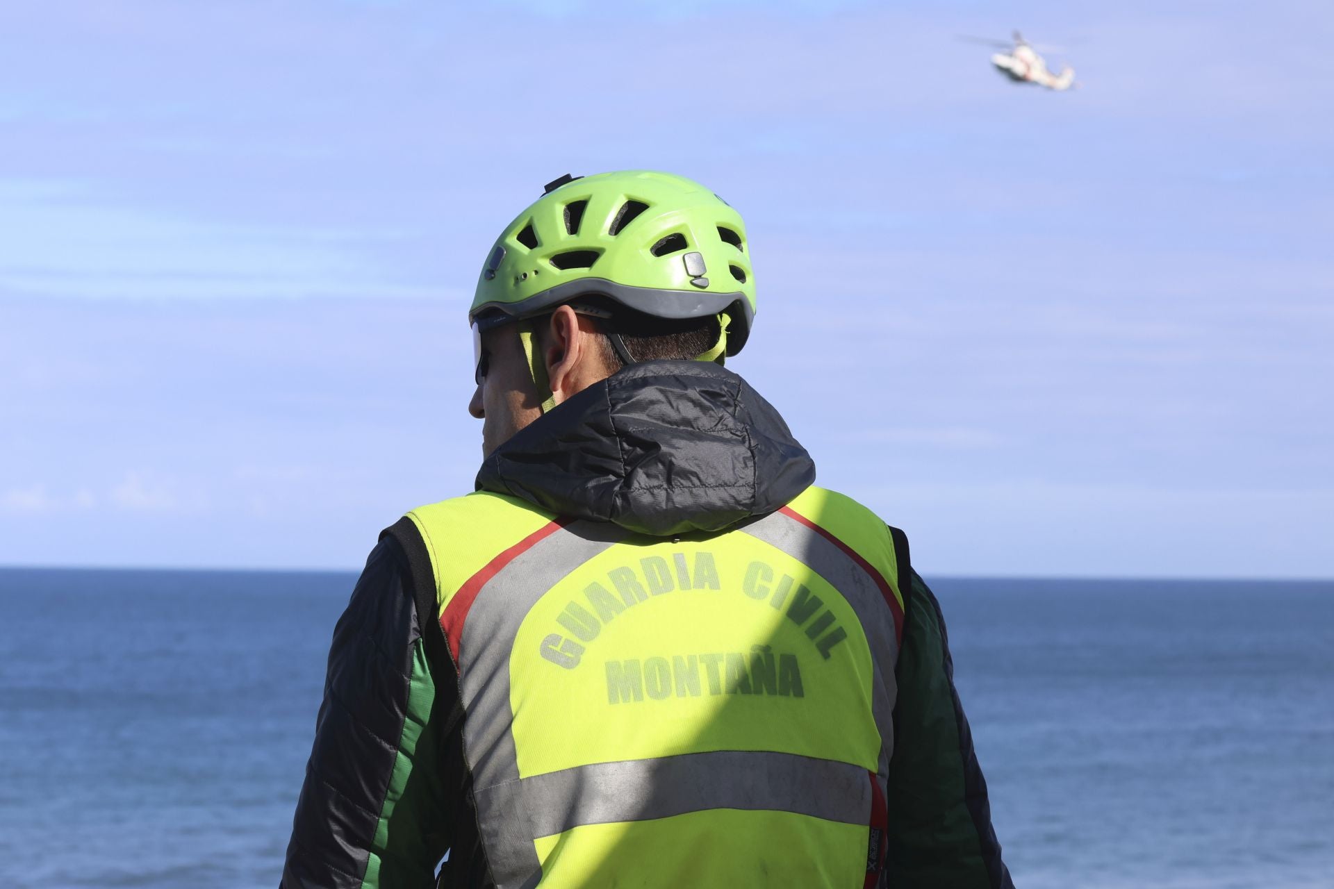
{"label": "man in green helmet and yellow vest seen from behind", "polygon": [[470,312],[476,493],[334,633],[283,885],[1010,886],[907,540],[724,369],[740,216],[564,176]]}

